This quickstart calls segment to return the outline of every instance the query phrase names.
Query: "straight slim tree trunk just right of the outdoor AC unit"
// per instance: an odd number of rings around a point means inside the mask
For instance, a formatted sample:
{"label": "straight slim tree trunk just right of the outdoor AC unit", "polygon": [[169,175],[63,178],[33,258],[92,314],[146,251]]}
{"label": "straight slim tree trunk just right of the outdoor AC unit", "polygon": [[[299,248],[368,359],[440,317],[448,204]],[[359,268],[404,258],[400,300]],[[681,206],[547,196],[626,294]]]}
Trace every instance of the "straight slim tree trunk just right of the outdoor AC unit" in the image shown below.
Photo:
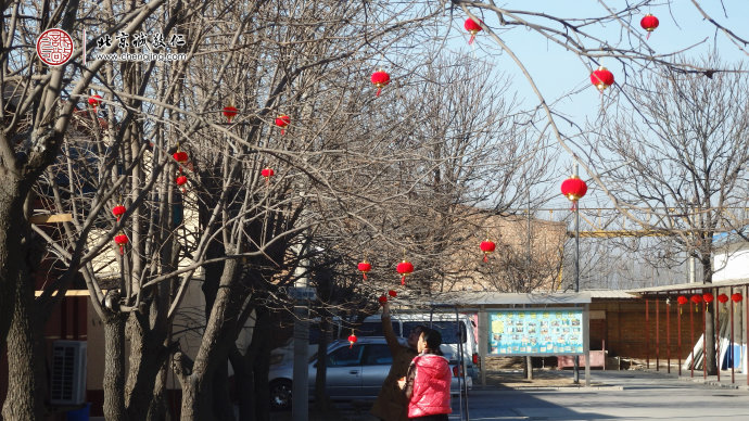
{"label": "straight slim tree trunk just right of the outdoor AC unit", "polygon": [[104,320],[104,418],[127,421],[125,409],[125,316]]}

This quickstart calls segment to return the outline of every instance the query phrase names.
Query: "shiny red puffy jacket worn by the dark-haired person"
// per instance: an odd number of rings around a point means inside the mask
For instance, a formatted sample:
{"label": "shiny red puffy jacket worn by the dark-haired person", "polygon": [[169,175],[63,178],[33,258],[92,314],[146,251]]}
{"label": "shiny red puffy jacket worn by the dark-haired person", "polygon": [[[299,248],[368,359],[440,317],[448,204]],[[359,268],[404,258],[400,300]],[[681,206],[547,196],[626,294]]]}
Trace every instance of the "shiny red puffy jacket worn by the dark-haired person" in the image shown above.
{"label": "shiny red puffy jacket worn by the dark-haired person", "polygon": [[411,362],[416,375],[414,390],[408,403],[408,418],[450,413],[449,384],[450,371],[445,357],[422,354]]}

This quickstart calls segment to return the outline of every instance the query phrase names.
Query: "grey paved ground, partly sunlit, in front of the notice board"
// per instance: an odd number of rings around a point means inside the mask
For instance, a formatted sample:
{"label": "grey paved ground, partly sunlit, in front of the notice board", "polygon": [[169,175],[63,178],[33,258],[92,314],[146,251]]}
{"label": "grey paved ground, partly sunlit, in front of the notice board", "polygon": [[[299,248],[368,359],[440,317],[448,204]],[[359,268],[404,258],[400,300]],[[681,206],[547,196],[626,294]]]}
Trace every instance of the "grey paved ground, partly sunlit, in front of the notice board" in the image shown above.
{"label": "grey paved ground, partly sunlit, in front of the notice board", "polygon": [[[571,371],[567,372],[572,375]],[[581,379],[582,380],[582,379]],[[474,388],[469,396],[472,421],[494,420],[749,420],[749,390],[715,387],[647,371],[593,371],[589,388]],[[746,385],[746,378],[739,385]],[[460,417],[453,399],[450,421]],[[340,406],[339,420],[374,421],[367,408]],[[272,420],[291,420],[275,412]],[[319,418],[310,417],[312,420]],[[327,421],[327,420],[326,420]],[[338,421],[338,420],[337,420]]]}

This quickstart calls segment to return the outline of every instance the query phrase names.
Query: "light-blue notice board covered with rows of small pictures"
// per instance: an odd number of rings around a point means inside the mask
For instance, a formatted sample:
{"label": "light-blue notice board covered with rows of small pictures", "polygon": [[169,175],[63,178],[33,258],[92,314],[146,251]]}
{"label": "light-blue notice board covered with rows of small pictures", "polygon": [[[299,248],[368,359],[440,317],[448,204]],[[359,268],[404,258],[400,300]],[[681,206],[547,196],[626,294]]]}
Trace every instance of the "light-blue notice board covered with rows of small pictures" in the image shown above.
{"label": "light-blue notice board covered with rows of small pictures", "polygon": [[583,309],[507,309],[488,312],[488,354],[584,354]]}

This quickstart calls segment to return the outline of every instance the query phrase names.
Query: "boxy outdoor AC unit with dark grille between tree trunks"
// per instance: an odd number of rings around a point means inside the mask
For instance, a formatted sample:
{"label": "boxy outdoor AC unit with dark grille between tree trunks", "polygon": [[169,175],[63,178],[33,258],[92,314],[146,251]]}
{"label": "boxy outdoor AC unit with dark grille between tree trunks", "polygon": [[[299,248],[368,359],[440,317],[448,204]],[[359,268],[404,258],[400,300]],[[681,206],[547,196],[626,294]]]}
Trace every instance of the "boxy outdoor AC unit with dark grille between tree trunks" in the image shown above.
{"label": "boxy outdoor AC unit with dark grille between tree trunks", "polygon": [[52,352],[52,405],[86,401],[86,341],[54,341]]}

